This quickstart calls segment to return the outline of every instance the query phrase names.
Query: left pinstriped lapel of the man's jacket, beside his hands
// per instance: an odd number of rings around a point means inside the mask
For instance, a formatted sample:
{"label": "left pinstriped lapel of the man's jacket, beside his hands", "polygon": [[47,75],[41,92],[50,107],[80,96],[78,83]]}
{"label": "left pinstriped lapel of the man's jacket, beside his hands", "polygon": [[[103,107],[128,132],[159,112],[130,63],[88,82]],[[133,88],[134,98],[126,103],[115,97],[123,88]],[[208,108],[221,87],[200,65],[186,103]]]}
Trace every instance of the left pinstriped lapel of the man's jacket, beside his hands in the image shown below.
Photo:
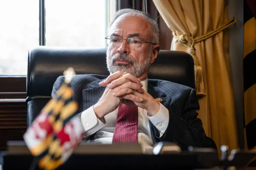
{"label": "left pinstriped lapel of the man's jacket, beside his hands", "polygon": [[99,82],[102,80],[97,80],[95,82],[90,83],[88,89],[83,90],[83,110],[85,111],[87,108],[90,108],[96,102],[98,102],[99,98],[105,91],[106,86],[100,86]]}

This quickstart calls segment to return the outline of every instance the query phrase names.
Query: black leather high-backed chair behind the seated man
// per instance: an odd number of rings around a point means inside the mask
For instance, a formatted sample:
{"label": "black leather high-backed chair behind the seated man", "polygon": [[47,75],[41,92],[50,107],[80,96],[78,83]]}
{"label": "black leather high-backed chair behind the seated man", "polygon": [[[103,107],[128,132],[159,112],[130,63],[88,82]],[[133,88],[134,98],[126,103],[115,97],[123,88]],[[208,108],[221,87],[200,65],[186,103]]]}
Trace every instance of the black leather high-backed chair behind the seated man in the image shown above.
{"label": "black leather high-backed chair behind the seated man", "polygon": [[[40,46],[29,50],[27,74],[27,126],[51,99],[52,86],[68,67],[76,74],[109,75],[106,48]],[[194,61],[182,51],[160,50],[151,65],[149,79],[163,79],[195,88]]]}

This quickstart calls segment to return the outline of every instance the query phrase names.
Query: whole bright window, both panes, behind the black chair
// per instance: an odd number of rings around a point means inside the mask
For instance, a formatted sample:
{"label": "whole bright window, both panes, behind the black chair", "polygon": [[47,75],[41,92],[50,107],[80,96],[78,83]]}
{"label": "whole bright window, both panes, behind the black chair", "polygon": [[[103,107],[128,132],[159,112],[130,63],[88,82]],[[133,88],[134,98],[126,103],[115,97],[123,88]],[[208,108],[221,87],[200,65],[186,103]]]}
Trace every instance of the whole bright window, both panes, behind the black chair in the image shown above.
{"label": "whole bright window, both panes, behind the black chair", "polygon": [[[106,47],[115,0],[44,1],[45,45]],[[0,1],[0,75],[27,74],[28,50],[39,45],[39,2]]]}

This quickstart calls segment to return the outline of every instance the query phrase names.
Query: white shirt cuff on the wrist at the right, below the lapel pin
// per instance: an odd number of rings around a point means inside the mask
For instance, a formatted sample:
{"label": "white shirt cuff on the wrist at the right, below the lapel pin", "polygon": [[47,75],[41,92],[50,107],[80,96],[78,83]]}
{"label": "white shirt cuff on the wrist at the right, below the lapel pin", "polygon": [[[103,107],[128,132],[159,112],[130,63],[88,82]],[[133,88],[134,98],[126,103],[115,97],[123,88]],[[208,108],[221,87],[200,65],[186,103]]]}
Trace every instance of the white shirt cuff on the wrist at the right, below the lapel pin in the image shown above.
{"label": "white shirt cuff on the wrist at the right, below the lapel pin", "polygon": [[168,127],[169,110],[160,103],[160,109],[155,116],[148,116],[148,112],[146,113],[146,116],[157,130],[159,130],[161,137]]}

